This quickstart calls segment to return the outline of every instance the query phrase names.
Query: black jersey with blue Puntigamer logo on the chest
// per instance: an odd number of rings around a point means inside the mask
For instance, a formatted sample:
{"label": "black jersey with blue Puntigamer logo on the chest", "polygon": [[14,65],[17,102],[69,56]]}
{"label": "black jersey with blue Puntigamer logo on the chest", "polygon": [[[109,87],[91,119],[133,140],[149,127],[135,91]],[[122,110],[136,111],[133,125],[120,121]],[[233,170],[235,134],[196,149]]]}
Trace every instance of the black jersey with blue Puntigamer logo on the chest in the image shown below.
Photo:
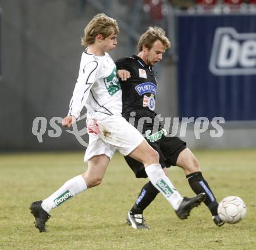
{"label": "black jersey with blue Puntigamer logo on the chest", "polygon": [[[120,81],[122,89],[123,112],[129,120],[131,112],[136,112],[136,121],[141,117],[150,117],[152,123],[144,122],[143,127],[152,129],[155,116],[155,95],[157,94],[157,80],[152,66],[148,66],[136,55],[121,58],[116,62],[117,69],[128,70],[131,77],[127,81]],[[135,127],[136,124],[134,124]],[[145,128],[145,129],[147,129]],[[145,129],[143,129],[145,131]],[[143,132],[144,132],[143,131]]]}

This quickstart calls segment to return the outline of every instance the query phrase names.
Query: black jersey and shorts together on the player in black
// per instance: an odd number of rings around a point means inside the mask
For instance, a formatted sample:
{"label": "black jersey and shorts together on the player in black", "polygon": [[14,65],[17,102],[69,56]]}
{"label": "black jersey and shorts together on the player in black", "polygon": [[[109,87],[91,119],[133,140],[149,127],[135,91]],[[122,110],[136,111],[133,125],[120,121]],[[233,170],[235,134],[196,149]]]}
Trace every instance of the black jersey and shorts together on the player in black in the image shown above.
{"label": "black jersey and shorts together on the player in black", "polygon": [[[151,123],[148,123],[148,120],[143,123],[142,133],[145,134],[145,140],[158,152],[159,163],[162,167],[175,166],[179,153],[186,148],[186,142],[177,137],[166,137],[166,131],[162,128],[161,123],[157,122],[157,120],[159,121],[157,113],[155,113],[157,80],[154,69],[146,65],[138,56],[121,58],[115,63],[117,69],[128,70],[131,74],[127,81],[120,81],[123,117],[129,122],[130,117],[133,117],[131,112],[136,112],[134,127],[140,132],[138,121],[141,117],[149,117]],[[136,177],[147,177],[142,163],[130,158],[130,156],[125,156],[125,160]]]}

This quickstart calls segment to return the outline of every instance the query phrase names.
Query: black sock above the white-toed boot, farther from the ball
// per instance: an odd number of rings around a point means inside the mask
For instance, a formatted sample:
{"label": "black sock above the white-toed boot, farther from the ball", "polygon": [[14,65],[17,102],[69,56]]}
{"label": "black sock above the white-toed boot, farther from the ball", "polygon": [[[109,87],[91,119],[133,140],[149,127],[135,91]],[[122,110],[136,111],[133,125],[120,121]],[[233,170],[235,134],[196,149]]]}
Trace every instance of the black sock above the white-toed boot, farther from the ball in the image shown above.
{"label": "black sock above the white-toed boot, farther from the ball", "polygon": [[150,205],[158,193],[159,191],[157,188],[155,188],[154,185],[149,181],[140,191],[140,195],[138,195],[138,198],[131,208],[130,213],[133,215],[143,213],[143,210],[147,208],[148,205]]}

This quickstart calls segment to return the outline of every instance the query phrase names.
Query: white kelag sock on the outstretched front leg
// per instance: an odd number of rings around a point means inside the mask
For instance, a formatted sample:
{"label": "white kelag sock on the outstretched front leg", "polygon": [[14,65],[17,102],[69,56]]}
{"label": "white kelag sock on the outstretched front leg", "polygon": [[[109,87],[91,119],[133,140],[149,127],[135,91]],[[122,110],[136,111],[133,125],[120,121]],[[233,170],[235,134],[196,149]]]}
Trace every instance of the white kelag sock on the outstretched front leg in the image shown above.
{"label": "white kelag sock on the outstretched front leg", "polygon": [[162,195],[169,201],[173,209],[177,210],[183,197],[179,194],[169,178],[163,172],[160,164],[152,164],[145,167],[145,172],[148,175],[151,183],[157,188]]}

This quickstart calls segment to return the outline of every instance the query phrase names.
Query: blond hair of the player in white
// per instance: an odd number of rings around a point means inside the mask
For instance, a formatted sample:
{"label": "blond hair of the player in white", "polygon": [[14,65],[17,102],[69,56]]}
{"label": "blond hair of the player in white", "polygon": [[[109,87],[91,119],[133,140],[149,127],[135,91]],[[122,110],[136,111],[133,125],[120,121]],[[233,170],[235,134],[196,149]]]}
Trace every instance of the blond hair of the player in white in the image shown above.
{"label": "blond hair of the player in white", "polygon": [[87,47],[94,44],[95,37],[98,34],[101,34],[105,39],[112,33],[119,33],[118,22],[104,13],[99,13],[84,28],[84,37],[81,37],[81,45]]}

